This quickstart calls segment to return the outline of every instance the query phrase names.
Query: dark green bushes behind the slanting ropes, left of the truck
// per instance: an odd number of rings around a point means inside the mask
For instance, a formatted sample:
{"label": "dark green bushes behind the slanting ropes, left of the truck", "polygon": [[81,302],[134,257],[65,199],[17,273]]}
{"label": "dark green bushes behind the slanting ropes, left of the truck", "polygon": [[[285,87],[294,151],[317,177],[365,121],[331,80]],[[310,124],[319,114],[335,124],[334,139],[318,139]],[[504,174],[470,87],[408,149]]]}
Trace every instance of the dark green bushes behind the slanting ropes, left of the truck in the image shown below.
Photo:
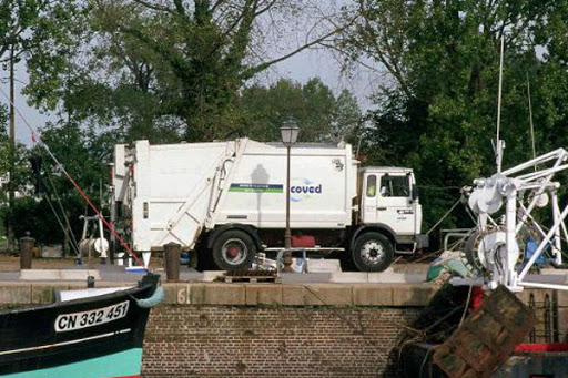
{"label": "dark green bushes behind the slanting ropes, left of the truck", "polygon": [[[98,134],[92,129],[81,129],[73,123],[48,124],[42,130],[42,140],[50,152],[62,162],[78,185],[99,207],[105,204],[105,192],[100,188],[106,183],[106,164],[110,162],[111,145],[116,141],[111,133]],[[12,222],[17,237],[30,231],[42,244],[63,243],[64,233],[60,222],[69,219],[75,238],[82,231],[80,215],[93,215],[84,200],[64,176],[61,167],[54,164],[43,147],[24,150],[16,164],[19,191],[24,196],[14,201],[13,208],[3,207],[0,218]],[[29,159],[40,161],[39,177],[32,176]],[[31,185],[40,183],[41,193],[32,193]],[[101,197],[102,195],[102,197]],[[58,219],[59,218],[59,219]]]}

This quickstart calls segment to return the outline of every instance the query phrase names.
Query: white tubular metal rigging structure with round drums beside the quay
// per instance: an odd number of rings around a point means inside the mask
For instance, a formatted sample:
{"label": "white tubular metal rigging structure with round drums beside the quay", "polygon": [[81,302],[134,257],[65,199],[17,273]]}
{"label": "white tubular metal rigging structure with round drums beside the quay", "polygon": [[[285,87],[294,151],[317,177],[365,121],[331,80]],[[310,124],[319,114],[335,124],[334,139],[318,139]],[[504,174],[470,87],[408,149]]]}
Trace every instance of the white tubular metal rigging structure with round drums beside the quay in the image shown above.
{"label": "white tubular metal rigging structure with round drums beside the quay", "polygon": [[[523,287],[568,289],[568,286],[525,280],[537,258],[550,249],[562,263],[562,238],[568,241],[555,176],[568,170],[568,151],[558,149],[490,177],[477,178],[468,190],[468,204],[477,214],[477,228],[466,243],[468,260],[485,277],[488,288],[499,284],[510,290]],[[501,210],[505,204],[505,208]],[[542,214],[549,208],[550,215]],[[545,227],[537,219],[545,219]],[[525,242],[531,236],[538,247],[523,265]]]}

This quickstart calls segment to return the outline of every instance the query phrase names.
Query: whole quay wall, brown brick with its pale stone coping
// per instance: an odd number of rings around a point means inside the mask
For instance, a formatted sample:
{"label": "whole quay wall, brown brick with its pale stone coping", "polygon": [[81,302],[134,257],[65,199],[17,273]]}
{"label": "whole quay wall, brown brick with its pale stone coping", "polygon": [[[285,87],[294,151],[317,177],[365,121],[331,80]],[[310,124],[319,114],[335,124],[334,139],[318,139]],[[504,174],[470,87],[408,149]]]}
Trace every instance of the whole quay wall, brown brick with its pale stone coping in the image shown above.
{"label": "whole quay wall, brown brick with its pale stone coping", "polygon": [[[165,302],[146,327],[145,378],[396,377],[395,347],[437,290],[430,284],[163,287]],[[54,289],[67,288],[84,284],[1,283],[0,306],[51,303]],[[550,335],[568,341],[568,292],[527,289],[519,297],[537,307],[537,341]]]}

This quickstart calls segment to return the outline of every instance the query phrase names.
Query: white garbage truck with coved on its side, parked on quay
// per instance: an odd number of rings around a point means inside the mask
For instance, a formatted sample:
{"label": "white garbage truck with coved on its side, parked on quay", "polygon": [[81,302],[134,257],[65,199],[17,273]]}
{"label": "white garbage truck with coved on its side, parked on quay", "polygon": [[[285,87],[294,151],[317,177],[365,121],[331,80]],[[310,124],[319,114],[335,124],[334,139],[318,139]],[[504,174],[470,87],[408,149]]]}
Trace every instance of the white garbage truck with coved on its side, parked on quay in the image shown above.
{"label": "white garbage truck with coved on its side, parked on quay", "polygon": [[[135,252],[212,253],[227,270],[284,247],[286,147],[250,139],[114,149],[111,218]],[[427,244],[413,171],[359,167],[352,146],[298,144],[291,152],[292,246],[349,254],[381,272],[395,253]]]}

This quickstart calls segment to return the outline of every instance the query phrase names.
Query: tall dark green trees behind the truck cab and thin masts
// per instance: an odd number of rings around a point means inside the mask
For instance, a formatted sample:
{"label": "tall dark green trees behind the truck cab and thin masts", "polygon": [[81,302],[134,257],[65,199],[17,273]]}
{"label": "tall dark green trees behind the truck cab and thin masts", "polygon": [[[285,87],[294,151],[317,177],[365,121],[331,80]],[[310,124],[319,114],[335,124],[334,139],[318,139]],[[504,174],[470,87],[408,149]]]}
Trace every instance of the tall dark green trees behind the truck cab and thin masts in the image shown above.
{"label": "tall dark green trees behind the truck cab and thin masts", "polygon": [[531,157],[527,81],[538,151],[566,141],[566,1],[358,0],[346,11],[358,18],[335,48],[387,74],[364,147],[374,163],[416,168],[427,223],[455,201],[456,187],[495,173],[501,37],[504,166]]}

